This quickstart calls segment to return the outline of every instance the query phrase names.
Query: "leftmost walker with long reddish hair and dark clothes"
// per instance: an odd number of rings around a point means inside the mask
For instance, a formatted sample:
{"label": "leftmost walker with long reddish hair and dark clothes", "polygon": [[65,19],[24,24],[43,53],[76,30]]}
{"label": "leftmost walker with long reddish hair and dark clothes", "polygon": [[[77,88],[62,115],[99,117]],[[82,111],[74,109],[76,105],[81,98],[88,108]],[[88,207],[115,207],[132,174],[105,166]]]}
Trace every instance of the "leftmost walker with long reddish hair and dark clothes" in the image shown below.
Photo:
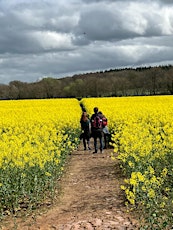
{"label": "leftmost walker with long reddish hair and dark clothes", "polygon": [[83,145],[84,145],[84,150],[88,149],[91,150],[90,148],[90,120],[88,118],[87,112],[83,112],[81,119],[80,119],[80,124],[81,124],[81,129],[82,129],[82,140],[83,140]]}

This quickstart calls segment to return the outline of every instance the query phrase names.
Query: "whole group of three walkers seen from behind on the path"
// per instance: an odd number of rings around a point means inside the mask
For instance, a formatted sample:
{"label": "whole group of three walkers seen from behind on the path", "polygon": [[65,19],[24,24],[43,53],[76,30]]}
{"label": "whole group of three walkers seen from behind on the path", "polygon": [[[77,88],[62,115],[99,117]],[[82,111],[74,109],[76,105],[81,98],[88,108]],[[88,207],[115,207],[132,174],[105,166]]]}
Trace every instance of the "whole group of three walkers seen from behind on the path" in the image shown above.
{"label": "whole group of three walkers seen from behind on the path", "polygon": [[98,139],[100,143],[100,153],[103,153],[103,149],[107,147],[107,137],[110,135],[107,127],[107,118],[98,110],[98,107],[95,107],[91,119],[89,119],[87,112],[83,111],[80,123],[82,129],[81,139],[83,140],[84,150],[91,150],[90,138],[93,137],[93,153],[98,152]]}

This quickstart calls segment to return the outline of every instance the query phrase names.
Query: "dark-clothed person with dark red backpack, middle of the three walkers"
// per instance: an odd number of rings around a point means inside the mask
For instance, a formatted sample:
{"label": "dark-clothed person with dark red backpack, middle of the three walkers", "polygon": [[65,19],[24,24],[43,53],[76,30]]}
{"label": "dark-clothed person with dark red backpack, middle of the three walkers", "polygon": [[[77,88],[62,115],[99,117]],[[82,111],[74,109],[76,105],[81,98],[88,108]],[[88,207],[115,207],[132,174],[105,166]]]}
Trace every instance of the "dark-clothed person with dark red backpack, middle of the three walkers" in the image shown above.
{"label": "dark-clothed person with dark red backpack, middle of the three walkers", "polygon": [[103,126],[102,119],[99,116],[98,108],[94,108],[94,114],[91,116],[91,135],[94,138],[94,149],[93,153],[97,153],[98,146],[97,140],[100,142],[100,153],[103,153]]}

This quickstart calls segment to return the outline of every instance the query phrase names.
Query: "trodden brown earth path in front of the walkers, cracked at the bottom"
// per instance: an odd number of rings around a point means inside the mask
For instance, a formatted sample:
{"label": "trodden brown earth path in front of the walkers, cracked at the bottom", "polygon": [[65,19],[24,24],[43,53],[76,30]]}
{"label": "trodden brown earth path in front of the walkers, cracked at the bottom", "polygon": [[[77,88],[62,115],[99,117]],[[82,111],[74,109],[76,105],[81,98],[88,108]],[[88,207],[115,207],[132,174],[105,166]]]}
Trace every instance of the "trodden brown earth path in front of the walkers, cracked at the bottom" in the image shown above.
{"label": "trodden brown earth path in front of the walkers, cracked at the bottom", "polygon": [[82,143],[68,159],[58,181],[57,199],[37,214],[6,220],[2,230],[134,230],[135,216],[124,205],[123,176],[113,149],[93,154]]}

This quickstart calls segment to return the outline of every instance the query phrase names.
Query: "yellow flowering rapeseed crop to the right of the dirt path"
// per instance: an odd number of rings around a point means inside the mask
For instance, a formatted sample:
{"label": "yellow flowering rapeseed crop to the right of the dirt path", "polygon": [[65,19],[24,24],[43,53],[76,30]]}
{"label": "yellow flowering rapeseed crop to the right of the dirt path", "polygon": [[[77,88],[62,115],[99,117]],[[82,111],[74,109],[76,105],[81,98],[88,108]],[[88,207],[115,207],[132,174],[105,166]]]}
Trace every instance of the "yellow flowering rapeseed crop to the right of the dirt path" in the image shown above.
{"label": "yellow flowering rapeseed crop to the right of the dirt path", "polygon": [[141,229],[171,229],[173,96],[84,98],[81,103],[90,115],[97,106],[108,118],[126,177],[121,188],[128,207],[144,214]]}

